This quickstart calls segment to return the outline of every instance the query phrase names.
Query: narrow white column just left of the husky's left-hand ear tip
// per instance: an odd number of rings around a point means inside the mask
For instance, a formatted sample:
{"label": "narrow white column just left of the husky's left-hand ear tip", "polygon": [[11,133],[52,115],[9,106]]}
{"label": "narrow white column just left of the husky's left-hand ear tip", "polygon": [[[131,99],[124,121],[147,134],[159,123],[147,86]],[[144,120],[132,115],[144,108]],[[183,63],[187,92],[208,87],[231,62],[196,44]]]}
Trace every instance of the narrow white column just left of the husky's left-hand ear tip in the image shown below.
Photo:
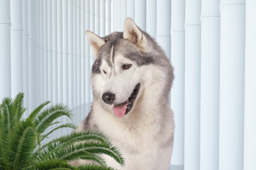
{"label": "narrow white column just left of the husky's left-hand ear tip", "polygon": [[80,89],[80,94],[81,94],[81,104],[85,104],[85,1],[81,1],[81,30],[80,30],[80,35],[81,35],[81,89]]}

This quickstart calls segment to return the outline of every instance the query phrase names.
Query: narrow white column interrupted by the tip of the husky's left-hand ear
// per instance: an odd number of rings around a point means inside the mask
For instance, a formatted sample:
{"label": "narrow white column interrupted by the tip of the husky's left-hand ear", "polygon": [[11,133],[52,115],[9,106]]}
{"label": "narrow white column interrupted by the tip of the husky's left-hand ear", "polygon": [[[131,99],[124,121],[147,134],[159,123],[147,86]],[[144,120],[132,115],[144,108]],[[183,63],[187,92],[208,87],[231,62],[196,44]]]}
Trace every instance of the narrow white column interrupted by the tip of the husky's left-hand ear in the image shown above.
{"label": "narrow white column interrupted by the tip of the husky's left-hand ear", "polygon": [[[90,29],[90,0],[85,1],[85,30]],[[91,63],[90,63],[90,46],[87,40],[85,40],[85,103],[90,103],[90,72],[91,72]]]}

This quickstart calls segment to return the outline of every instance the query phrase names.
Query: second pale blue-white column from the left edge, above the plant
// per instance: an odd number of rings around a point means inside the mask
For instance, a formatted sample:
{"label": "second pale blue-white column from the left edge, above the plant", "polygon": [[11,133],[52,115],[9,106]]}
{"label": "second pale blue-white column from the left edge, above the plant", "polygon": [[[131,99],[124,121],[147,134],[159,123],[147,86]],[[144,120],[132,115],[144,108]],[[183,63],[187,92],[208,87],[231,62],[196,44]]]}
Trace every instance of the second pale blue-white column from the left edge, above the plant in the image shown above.
{"label": "second pale blue-white column from the left edge, above the plant", "polygon": [[11,0],[11,20],[12,97],[16,97],[23,92],[22,1]]}

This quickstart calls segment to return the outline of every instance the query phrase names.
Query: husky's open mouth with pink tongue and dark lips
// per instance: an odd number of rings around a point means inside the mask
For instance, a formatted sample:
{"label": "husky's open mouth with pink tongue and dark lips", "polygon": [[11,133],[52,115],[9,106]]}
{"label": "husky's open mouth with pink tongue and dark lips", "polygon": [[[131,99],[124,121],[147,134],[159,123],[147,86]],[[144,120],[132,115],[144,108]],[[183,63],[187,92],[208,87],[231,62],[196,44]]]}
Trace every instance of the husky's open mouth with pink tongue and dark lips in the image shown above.
{"label": "husky's open mouth with pink tongue and dark lips", "polygon": [[115,112],[116,116],[121,118],[128,112],[132,110],[134,100],[136,99],[140,90],[140,83],[138,83],[132,91],[132,94],[128,99],[122,104],[116,104],[113,106],[113,111]]}

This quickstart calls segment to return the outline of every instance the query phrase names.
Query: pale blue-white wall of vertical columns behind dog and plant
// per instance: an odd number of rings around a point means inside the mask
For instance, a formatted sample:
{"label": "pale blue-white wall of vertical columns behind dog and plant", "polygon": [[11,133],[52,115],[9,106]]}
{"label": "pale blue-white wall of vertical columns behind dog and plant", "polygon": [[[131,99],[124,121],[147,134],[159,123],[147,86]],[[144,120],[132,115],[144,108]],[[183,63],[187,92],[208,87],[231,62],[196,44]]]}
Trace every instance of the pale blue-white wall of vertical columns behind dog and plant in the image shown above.
{"label": "pale blue-white wall of vertical columns behind dog and plant", "polygon": [[255,0],[1,0],[0,98],[24,92],[28,112],[68,104],[78,123],[92,101],[85,30],[122,31],[129,16],[175,68],[171,169],[254,170],[255,9]]}

